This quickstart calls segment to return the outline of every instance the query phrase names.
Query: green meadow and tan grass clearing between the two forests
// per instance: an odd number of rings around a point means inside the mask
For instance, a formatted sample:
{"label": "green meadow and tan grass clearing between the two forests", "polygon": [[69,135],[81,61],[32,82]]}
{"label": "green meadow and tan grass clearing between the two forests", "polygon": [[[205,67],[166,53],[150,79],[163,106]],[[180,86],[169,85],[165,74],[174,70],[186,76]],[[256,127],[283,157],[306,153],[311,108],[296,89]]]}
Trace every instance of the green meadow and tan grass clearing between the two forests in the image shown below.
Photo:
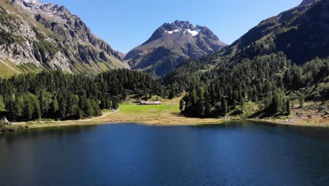
{"label": "green meadow and tan grass clearing between the two forests", "polygon": [[[188,118],[182,116],[177,100],[164,101],[162,105],[139,106],[121,104],[118,111],[103,111],[103,116],[86,120],[36,122],[30,128],[65,125],[97,125],[104,123],[141,123],[145,125],[199,125],[217,124],[224,120],[217,118]],[[20,125],[23,123],[20,123]]]}

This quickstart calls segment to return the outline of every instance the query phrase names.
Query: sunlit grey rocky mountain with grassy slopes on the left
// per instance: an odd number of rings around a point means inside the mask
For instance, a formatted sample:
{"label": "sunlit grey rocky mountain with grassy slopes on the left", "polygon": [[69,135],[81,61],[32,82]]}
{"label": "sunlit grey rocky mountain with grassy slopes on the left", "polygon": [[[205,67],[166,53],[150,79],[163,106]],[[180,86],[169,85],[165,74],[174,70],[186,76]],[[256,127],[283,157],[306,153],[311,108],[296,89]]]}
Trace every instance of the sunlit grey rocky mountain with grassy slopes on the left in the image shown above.
{"label": "sunlit grey rocky mountain with grassy slopes on the left", "polygon": [[64,6],[39,0],[0,1],[0,62],[9,70],[55,69],[93,75],[128,68]]}

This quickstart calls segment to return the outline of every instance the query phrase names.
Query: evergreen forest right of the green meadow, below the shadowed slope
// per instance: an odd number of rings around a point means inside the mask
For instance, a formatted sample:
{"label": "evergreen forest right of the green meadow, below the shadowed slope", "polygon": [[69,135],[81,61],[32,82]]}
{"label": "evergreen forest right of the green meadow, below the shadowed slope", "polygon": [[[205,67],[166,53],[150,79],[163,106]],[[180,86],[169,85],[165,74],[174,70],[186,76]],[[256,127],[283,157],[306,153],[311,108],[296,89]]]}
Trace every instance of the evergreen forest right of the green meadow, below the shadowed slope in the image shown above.
{"label": "evergreen forest right of the green meadow, below the shadowed slope", "polygon": [[[289,114],[291,101],[329,99],[329,59],[315,58],[297,66],[279,52],[232,63],[214,63],[213,56],[187,61],[164,77],[171,96],[189,92],[181,101],[188,116],[218,117],[252,101],[262,113]],[[191,73],[193,72],[193,73]]]}

